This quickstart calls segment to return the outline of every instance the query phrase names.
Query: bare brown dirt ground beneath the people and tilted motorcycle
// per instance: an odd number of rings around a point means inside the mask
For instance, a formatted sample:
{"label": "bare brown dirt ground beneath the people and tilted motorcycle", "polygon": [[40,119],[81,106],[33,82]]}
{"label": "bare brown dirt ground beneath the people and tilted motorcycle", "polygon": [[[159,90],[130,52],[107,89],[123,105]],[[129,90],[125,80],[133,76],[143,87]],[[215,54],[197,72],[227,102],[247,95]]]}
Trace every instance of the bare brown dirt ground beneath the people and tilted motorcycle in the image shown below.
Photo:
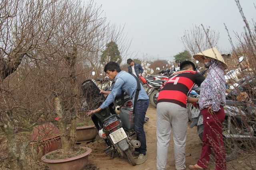
{"label": "bare brown dirt ground beneath the people and tilted motorcycle", "polygon": [[[85,170],[156,170],[156,108],[150,105],[146,116],[149,117],[148,123],[144,125],[147,140],[148,160],[144,164],[132,166],[127,158],[122,158],[117,154],[114,158],[110,158],[110,156],[106,155],[103,151],[107,147],[106,143],[97,135],[95,141],[80,144],[80,146],[86,146],[92,149],[92,153],[89,156]],[[188,165],[195,164],[200,157],[202,147],[202,142],[197,135],[197,128],[194,127],[193,129],[190,129],[189,126],[190,122],[188,122],[186,139],[187,170],[189,169]],[[7,142],[7,140],[5,141]],[[4,145],[1,146],[3,147]],[[6,148],[4,150],[6,150]],[[10,170],[10,165],[5,158],[6,154],[7,153],[1,153],[0,155],[0,170]],[[32,167],[32,170],[48,170],[48,167],[43,162],[34,160],[28,160],[28,162],[29,166]],[[255,168],[252,165],[256,165],[255,156],[251,159],[248,156],[243,157],[239,155],[239,158],[228,162],[227,170],[254,170]],[[210,161],[209,169],[214,170],[213,158]],[[168,149],[167,170],[175,170],[172,139],[170,140]]]}

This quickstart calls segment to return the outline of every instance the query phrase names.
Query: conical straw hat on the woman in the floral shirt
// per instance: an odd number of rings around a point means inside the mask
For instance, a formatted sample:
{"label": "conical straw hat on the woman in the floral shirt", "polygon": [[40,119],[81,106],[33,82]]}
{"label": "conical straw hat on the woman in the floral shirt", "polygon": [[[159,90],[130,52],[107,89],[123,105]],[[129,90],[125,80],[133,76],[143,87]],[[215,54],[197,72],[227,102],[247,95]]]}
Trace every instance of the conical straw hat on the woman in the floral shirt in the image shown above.
{"label": "conical straw hat on the woman in the floral shirt", "polygon": [[196,55],[193,55],[193,58],[199,61],[200,63],[204,63],[203,56],[210,57],[212,59],[216,59],[222,63],[223,69],[228,68],[227,64],[225,63],[224,59],[222,58],[220,52],[216,47],[213,47],[212,49],[208,49],[203,51],[202,53],[197,53]]}

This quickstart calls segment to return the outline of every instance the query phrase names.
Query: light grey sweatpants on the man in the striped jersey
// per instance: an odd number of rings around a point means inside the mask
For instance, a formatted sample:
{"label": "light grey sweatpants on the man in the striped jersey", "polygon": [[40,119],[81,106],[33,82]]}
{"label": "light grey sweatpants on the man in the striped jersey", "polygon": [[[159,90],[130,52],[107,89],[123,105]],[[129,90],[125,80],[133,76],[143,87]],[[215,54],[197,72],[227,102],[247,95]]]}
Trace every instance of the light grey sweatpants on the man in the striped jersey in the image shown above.
{"label": "light grey sweatpants on the man in the striped jersey", "polygon": [[188,125],[188,110],[178,104],[160,102],[156,106],[156,111],[156,168],[158,170],[166,169],[170,135],[171,132],[173,132],[176,169],[186,169],[185,148]]}

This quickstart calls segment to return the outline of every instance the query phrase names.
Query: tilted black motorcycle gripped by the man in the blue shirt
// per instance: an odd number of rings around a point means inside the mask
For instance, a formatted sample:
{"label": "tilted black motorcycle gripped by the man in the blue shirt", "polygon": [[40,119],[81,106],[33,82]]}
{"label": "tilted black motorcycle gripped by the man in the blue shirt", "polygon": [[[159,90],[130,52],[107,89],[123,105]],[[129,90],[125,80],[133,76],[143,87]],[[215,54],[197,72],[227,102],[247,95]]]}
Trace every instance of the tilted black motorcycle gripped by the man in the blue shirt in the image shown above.
{"label": "tilted black motorcycle gripped by the man in the blue shirt", "polygon": [[[84,111],[96,109],[106,100],[92,80],[82,83],[82,91],[86,99],[82,106]],[[118,153],[120,156],[128,158],[130,164],[135,166],[136,162],[132,152],[134,148],[140,147],[140,141],[136,140],[134,122],[131,119],[132,101],[129,96],[124,96],[123,107],[130,109],[127,115],[120,112],[121,103],[121,97],[116,98],[106,109],[94,113],[91,119],[98,129],[99,136],[108,146],[104,152],[110,154],[111,158]],[[145,117],[144,123],[146,122],[148,122],[148,117]]]}

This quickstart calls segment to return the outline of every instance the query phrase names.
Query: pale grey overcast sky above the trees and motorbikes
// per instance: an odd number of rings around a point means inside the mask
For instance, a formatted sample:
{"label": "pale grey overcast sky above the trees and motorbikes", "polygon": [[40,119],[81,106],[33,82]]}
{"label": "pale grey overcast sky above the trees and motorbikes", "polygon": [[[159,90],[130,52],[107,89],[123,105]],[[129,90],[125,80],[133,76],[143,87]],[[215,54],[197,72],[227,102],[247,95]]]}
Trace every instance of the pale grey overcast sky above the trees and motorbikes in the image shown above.
{"label": "pale grey overcast sky above the trees and motorbikes", "polygon": [[[244,32],[244,22],[235,0],[94,0],[102,5],[103,15],[116,25],[125,25],[124,32],[132,40],[129,52],[138,53],[131,58],[166,59],[184,51],[180,37],[194,25],[220,33],[219,48],[231,50],[228,27],[232,41],[235,34]],[[256,0],[240,0],[246,19],[252,23],[256,17]]]}

